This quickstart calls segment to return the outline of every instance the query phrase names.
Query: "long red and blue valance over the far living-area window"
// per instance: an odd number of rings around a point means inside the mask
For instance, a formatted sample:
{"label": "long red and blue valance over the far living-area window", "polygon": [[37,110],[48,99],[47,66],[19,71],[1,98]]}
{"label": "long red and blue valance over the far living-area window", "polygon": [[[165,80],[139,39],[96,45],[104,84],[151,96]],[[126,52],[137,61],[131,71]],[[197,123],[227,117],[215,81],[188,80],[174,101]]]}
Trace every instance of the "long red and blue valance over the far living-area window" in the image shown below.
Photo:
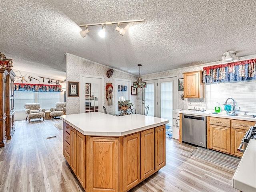
{"label": "long red and blue valance over the far living-area window", "polygon": [[14,83],[14,91],[62,92],[62,86]]}

